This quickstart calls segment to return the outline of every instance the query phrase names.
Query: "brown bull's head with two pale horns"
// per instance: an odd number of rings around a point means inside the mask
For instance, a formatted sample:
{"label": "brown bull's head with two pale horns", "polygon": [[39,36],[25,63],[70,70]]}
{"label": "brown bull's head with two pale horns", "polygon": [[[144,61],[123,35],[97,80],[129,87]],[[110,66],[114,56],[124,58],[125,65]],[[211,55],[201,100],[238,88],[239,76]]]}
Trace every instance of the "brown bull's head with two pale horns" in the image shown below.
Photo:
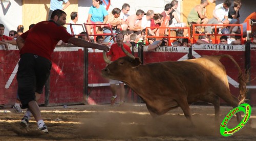
{"label": "brown bull's head with two pale horns", "polygon": [[119,58],[114,62],[111,62],[106,57],[106,52],[103,51],[104,61],[109,65],[101,70],[102,76],[122,81],[125,79],[127,74],[130,74],[132,69],[138,67],[141,64],[139,58],[135,58],[134,55],[125,50],[123,46],[121,47],[123,52],[127,55],[127,57]]}

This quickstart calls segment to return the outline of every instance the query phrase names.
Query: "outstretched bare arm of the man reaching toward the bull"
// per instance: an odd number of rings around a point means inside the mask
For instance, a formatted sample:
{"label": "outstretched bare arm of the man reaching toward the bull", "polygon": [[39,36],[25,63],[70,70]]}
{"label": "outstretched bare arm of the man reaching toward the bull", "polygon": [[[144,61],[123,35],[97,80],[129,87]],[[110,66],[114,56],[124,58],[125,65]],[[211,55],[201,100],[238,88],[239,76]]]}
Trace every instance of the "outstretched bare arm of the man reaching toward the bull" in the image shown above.
{"label": "outstretched bare arm of the man reaching toward the bull", "polygon": [[100,44],[95,44],[88,42],[86,40],[78,39],[75,37],[69,38],[68,42],[79,46],[79,47],[85,47],[85,48],[94,48],[94,49],[99,49],[99,50],[104,50],[104,51],[109,51],[109,47],[106,45],[100,45]]}

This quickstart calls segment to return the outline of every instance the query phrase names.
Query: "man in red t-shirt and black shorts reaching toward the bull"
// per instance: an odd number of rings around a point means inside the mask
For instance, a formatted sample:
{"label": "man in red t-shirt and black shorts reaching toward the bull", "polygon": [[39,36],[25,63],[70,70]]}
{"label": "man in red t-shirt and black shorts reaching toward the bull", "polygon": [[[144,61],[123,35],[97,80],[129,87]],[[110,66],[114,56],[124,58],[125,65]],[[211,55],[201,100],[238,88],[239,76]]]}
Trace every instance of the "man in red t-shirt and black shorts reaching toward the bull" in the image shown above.
{"label": "man in red t-shirt and black shorts reaching toward the bull", "polygon": [[66,23],[67,14],[62,10],[54,10],[49,21],[41,21],[29,31],[16,39],[20,50],[20,61],[17,72],[18,96],[22,108],[28,108],[20,124],[28,126],[30,116],[34,116],[38,130],[48,133],[36,102],[42,94],[51,70],[51,54],[59,40],[70,42],[84,48],[96,48],[109,51],[105,45],[90,43],[70,35],[61,25]]}

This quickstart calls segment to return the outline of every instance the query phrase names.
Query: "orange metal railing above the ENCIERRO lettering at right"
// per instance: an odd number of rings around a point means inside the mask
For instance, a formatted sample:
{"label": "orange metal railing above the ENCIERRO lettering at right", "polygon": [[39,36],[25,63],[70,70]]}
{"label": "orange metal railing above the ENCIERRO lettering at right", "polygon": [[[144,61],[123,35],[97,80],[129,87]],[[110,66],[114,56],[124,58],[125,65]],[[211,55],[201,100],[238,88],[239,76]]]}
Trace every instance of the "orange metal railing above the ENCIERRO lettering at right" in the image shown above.
{"label": "orange metal railing above the ENCIERRO lettering at right", "polygon": [[196,34],[195,33],[195,26],[215,26],[215,33],[214,34],[207,34],[207,35],[210,35],[210,36],[215,36],[214,38],[214,41],[215,41],[215,44],[218,43],[218,39],[217,39],[217,36],[233,36],[234,34],[218,34],[217,33],[217,26],[240,26],[240,34],[235,34],[235,35],[238,35],[238,36],[241,36],[241,44],[244,44],[244,40],[243,40],[243,25],[242,24],[193,24],[193,43],[196,43],[196,39],[195,39],[195,36],[199,36],[199,35],[205,35],[205,34]]}

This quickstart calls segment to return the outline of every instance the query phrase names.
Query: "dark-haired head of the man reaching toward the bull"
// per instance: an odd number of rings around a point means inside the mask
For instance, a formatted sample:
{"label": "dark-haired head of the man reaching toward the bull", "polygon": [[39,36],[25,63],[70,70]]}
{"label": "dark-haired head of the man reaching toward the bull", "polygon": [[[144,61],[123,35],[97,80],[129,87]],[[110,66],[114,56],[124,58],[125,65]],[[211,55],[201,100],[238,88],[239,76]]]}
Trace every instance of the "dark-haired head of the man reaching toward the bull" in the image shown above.
{"label": "dark-haired head of the man reaching toward the bull", "polygon": [[56,9],[52,12],[51,20],[55,21],[58,25],[65,25],[66,17],[67,14],[64,11]]}

